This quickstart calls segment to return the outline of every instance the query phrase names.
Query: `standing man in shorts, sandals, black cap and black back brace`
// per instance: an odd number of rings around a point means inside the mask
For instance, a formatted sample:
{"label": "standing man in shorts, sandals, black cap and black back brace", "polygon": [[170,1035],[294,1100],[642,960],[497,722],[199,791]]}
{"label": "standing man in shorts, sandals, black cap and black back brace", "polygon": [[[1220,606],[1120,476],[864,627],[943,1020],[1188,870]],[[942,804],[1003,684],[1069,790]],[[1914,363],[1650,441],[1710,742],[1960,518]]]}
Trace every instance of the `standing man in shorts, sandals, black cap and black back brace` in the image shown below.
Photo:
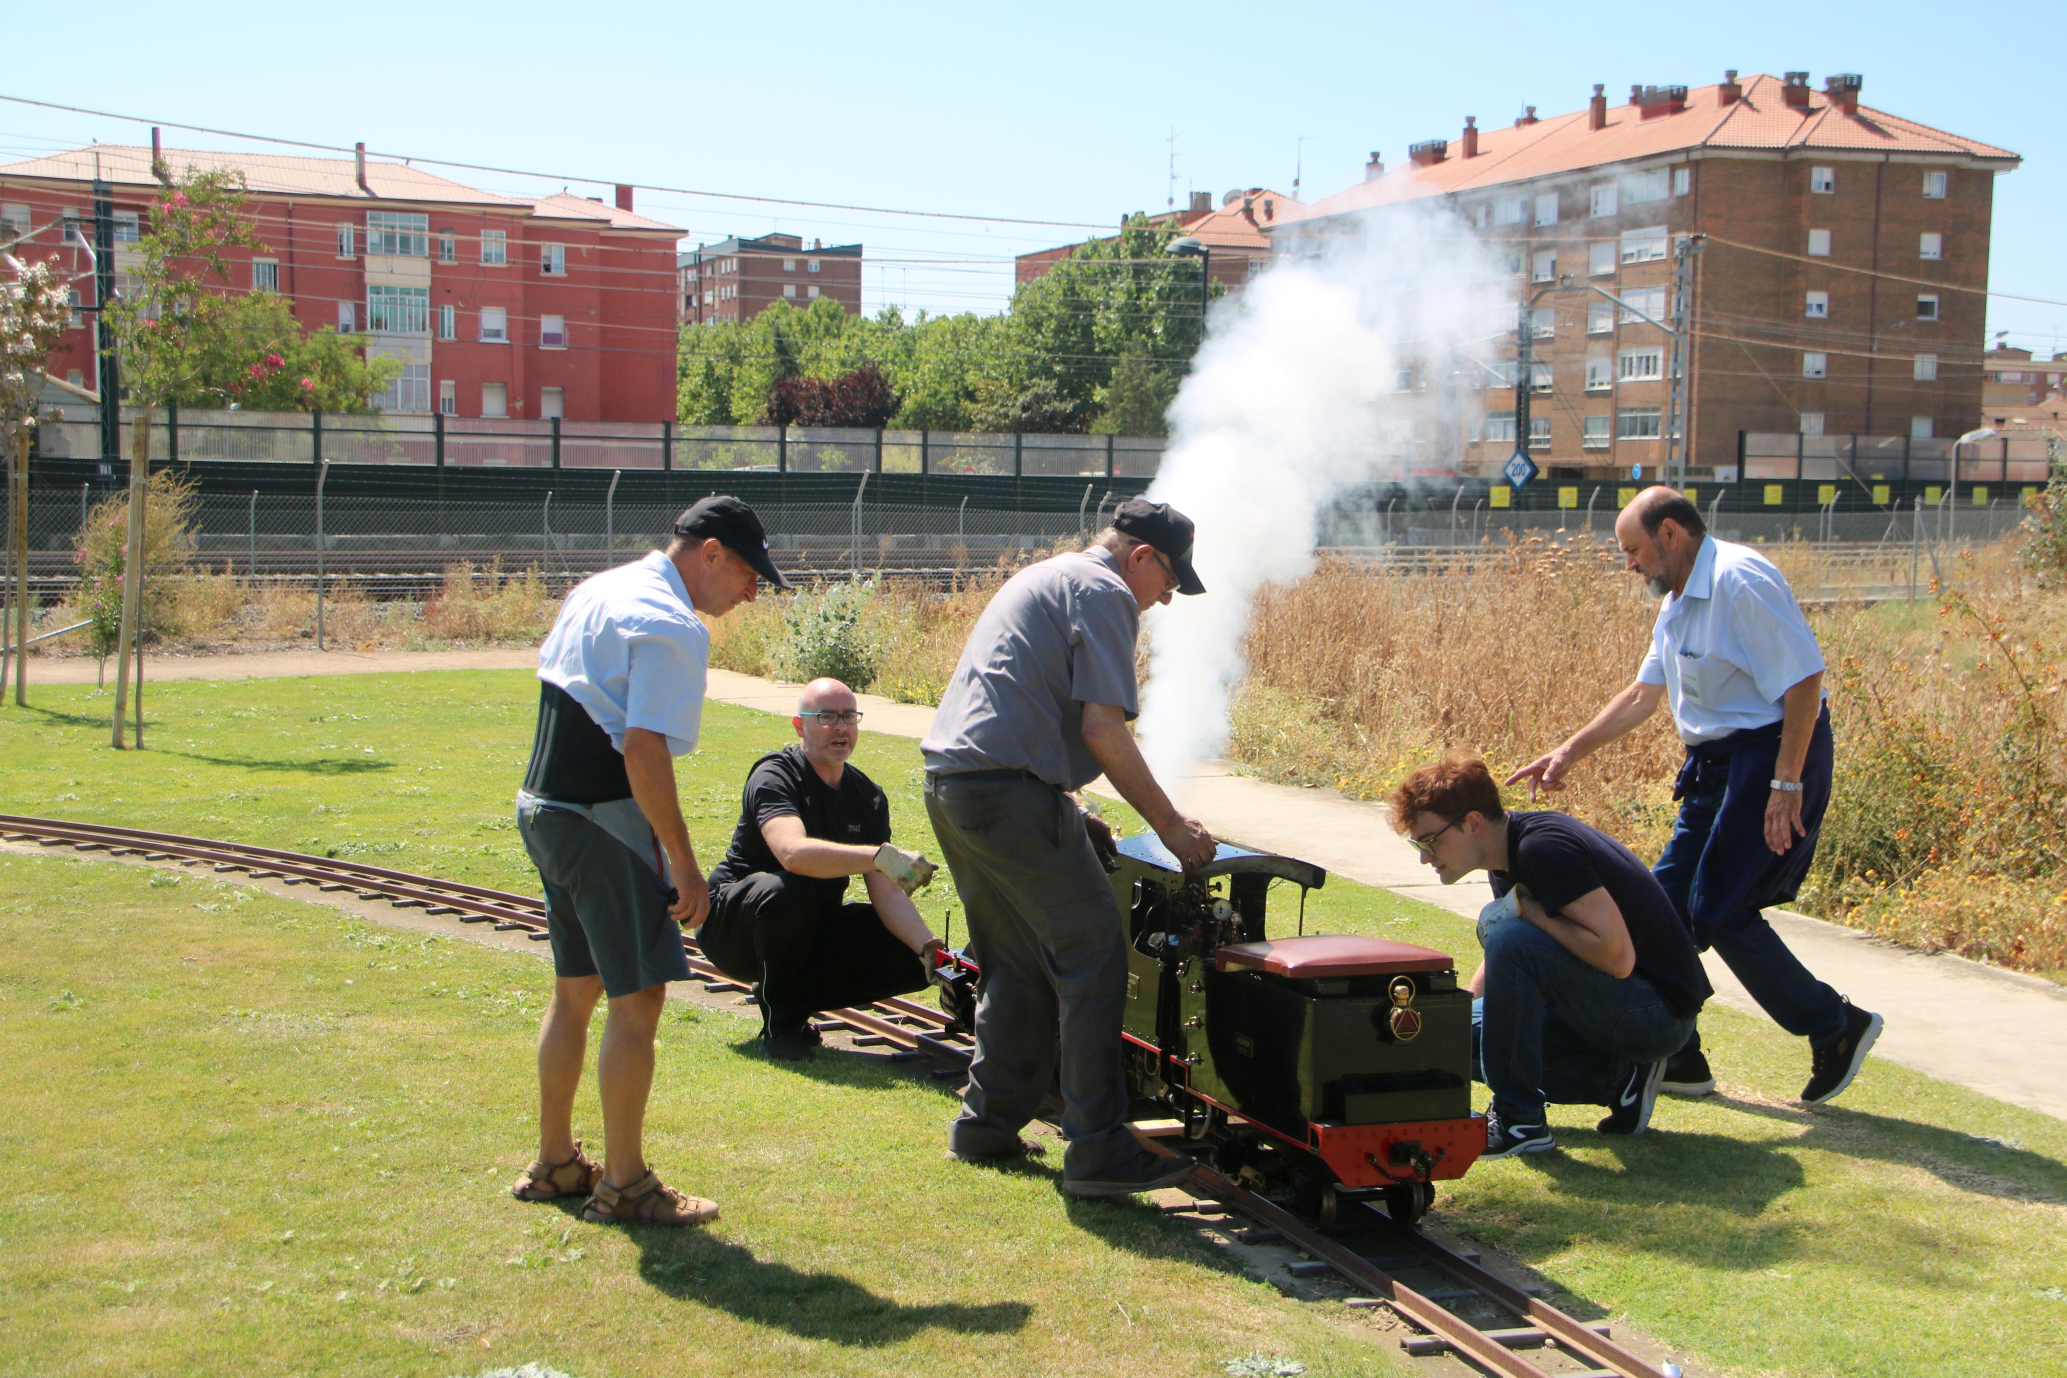
{"label": "standing man in shorts, sandals, black cap and black back brace", "polygon": [[[537,1031],[537,1161],[511,1188],[523,1200],[583,1194],[599,1223],[701,1225],[717,1204],[664,1186],[643,1134],[653,1031],[668,981],[688,979],[682,928],[709,913],[709,884],[682,822],[674,756],[697,750],[711,638],[754,601],[757,581],[788,589],[761,519],[738,498],[705,498],[645,560],[581,583],[537,655],[539,704],[517,831],[546,886],[552,1002]],[[604,1161],[575,1138],[575,1091],[589,1014],[610,998],[597,1085]]]}

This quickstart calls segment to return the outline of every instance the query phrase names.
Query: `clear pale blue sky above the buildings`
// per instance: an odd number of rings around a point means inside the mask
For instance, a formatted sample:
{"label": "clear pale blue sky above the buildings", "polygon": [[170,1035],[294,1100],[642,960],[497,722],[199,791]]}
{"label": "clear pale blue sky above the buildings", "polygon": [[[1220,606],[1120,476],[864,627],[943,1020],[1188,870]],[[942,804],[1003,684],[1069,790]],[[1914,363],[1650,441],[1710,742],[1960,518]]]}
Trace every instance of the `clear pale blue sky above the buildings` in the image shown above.
{"label": "clear pale blue sky above the buildings", "polygon": [[[186,8],[188,17],[178,10]],[[2036,10],[2032,12],[2036,17]],[[1970,23],[1968,23],[1970,21]],[[1964,25],[1964,27],[1962,27]],[[89,56],[89,35],[95,41]],[[23,6],[0,93],[312,143],[597,182],[1110,225],[1232,186],[1304,194],[1379,149],[1455,138],[1466,114],[1577,109],[1592,83],[1718,81],[1724,68],[1862,72],[1864,101],[2009,147],[1995,291],[2067,302],[2067,126],[2057,43],[2005,39],[1943,4],[1734,6]],[[97,72],[89,76],[89,72]],[[0,159],[136,126],[0,103]],[[167,143],[225,140],[167,130]],[[440,169],[442,171],[442,169]],[[494,190],[513,178],[451,174]],[[546,190],[556,190],[550,182]],[[595,186],[575,186],[593,194]],[[608,194],[608,190],[606,190]],[[864,240],[870,308],[998,310],[1015,252],[1069,229],[754,207],[643,192],[690,238],[788,229]],[[905,260],[905,262],[899,262]],[[1991,331],[2046,353],[2067,308],[1997,300]]]}

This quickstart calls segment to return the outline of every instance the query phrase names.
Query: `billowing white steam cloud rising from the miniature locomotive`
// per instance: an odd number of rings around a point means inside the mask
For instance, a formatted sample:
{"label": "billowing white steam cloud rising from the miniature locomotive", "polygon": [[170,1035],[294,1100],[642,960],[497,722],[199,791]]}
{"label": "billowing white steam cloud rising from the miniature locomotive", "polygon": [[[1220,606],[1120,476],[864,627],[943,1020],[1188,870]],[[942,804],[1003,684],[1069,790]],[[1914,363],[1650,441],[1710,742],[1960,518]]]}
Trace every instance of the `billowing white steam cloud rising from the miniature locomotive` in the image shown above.
{"label": "billowing white steam cloud rising from the miniature locomotive", "polygon": [[1207,589],[1149,622],[1141,746],[1172,793],[1226,750],[1257,591],[1313,570],[1348,490],[1455,452],[1484,364],[1509,357],[1511,293],[1461,219],[1395,207],[1215,308],[1149,490],[1197,523]]}

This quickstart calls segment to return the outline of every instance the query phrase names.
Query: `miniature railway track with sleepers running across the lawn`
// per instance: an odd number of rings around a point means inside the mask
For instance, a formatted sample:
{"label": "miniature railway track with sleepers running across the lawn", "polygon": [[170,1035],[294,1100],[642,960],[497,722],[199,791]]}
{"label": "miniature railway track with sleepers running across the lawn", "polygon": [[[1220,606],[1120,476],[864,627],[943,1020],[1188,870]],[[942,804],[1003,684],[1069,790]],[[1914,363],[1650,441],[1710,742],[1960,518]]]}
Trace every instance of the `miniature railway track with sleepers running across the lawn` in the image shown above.
{"label": "miniature railway track with sleepers running across the lawn", "polygon": [[[537,897],[339,857],[19,814],[0,814],[0,841],[205,866],[211,874],[291,886],[312,884],[331,895],[349,892],[546,940],[546,907]],[[748,990],[705,961],[692,938],[684,936],[682,946],[690,973],[705,988]],[[940,1072],[969,1064],[969,1039],[947,1014],[914,1000],[891,998],[868,1008],[827,1010],[819,1027],[845,1031],[862,1047],[887,1045],[891,1056],[934,1062]],[[1550,1306],[1534,1289],[1480,1266],[1478,1254],[1451,1250],[1418,1229],[1399,1227],[1366,1200],[1341,1200],[1333,1223],[1323,1229],[1213,1167],[1201,1165],[1182,1190],[1193,1200],[1160,1209],[1201,1219],[1244,1217],[1248,1227],[1234,1231],[1242,1244],[1286,1244],[1304,1256],[1286,1264],[1292,1277],[1335,1275],[1360,1293],[1346,1297],[1348,1306],[1385,1306],[1420,1330],[1399,1341],[1408,1353],[1451,1353],[1503,1378],[1676,1378],[1676,1370],[1654,1366],[1616,1345],[1604,1322],[1585,1322]],[[1490,1320],[1466,1312],[1480,1312]],[[1544,1353],[1523,1355],[1523,1349]]]}

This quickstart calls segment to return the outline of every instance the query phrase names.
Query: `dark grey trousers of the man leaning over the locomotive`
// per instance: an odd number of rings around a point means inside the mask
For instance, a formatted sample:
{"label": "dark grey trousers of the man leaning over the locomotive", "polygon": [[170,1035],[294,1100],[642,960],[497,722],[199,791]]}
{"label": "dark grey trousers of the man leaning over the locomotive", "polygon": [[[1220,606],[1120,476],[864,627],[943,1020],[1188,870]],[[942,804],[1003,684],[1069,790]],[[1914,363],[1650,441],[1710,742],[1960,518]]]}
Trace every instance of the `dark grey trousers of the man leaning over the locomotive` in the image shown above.
{"label": "dark grey trousers of the man leaning over the locomotive", "polygon": [[1019,1142],[1056,1076],[1065,1178],[1133,1157],[1120,1014],[1127,934],[1077,804],[1021,771],[926,775],[926,816],[969,915],[976,1060],[949,1128],[955,1153]]}

